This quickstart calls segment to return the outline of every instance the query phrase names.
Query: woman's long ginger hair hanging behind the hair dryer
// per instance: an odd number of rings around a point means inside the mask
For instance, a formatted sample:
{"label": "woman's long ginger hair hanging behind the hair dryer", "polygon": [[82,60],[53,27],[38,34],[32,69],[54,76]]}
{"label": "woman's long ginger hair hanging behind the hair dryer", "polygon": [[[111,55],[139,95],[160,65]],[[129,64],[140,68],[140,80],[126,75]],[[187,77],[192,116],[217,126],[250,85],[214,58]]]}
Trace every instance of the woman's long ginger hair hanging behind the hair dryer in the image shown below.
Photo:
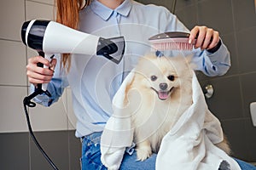
{"label": "woman's long ginger hair hanging behind the hair dryer", "polygon": [[[78,29],[79,11],[90,4],[90,0],[55,0],[56,21],[62,25]],[[70,54],[62,54],[61,64],[63,68],[70,68]]]}

